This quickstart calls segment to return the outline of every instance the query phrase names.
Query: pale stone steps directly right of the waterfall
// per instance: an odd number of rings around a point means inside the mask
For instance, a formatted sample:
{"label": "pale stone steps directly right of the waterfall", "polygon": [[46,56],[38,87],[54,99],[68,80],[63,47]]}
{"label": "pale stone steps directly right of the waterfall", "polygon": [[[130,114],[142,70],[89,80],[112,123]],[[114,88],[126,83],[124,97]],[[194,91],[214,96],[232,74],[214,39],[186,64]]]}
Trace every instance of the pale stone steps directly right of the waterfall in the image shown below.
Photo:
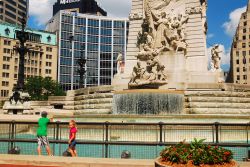
{"label": "pale stone steps directly right of the waterfall", "polygon": [[250,115],[250,92],[185,91],[184,113]]}

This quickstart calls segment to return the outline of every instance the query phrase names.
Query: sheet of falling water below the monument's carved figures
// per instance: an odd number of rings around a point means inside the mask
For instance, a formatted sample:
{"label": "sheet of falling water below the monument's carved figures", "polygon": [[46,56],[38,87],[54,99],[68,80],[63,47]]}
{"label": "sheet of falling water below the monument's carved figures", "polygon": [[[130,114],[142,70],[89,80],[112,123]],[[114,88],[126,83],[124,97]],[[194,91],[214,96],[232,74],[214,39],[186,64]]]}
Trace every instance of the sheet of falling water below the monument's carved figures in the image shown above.
{"label": "sheet of falling water below the monument's carved figures", "polygon": [[170,91],[121,91],[113,96],[113,114],[180,114],[183,110],[183,93]]}

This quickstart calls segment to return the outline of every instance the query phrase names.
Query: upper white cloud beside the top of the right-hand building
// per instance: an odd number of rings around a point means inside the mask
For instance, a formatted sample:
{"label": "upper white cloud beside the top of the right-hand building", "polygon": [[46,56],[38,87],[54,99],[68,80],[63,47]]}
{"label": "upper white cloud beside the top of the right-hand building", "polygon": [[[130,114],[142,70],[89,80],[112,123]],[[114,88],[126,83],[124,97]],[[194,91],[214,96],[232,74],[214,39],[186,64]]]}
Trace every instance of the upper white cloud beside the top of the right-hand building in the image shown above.
{"label": "upper white cloud beside the top of the right-hand building", "polygon": [[246,11],[246,6],[242,8],[235,9],[229,14],[229,21],[223,23],[226,34],[230,37],[234,36],[236,28],[239,24],[241,14]]}

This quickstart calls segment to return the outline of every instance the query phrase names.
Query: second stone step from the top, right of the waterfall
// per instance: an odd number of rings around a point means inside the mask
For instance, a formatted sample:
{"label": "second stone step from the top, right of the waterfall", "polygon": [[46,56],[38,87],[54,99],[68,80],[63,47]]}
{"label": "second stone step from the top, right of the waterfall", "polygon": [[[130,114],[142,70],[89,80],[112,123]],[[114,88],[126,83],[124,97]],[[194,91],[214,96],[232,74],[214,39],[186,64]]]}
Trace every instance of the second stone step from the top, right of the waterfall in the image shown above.
{"label": "second stone step from the top, right of the waterfall", "polygon": [[217,102],[217,103],[250,103],[250,98],[246,97],[204,97],[191,96],[185,97],[186,102]]}

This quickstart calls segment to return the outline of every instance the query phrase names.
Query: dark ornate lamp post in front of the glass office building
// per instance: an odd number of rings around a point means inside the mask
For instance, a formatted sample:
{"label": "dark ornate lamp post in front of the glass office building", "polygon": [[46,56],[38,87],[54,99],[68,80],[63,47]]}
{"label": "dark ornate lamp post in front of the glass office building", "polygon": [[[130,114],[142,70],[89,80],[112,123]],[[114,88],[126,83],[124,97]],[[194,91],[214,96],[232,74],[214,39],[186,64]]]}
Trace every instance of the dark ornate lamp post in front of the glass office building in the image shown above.
{"label": "dark ornate lamp post in front of the glass office building", "polygon": [[83,53],[83,45],[81,46],[81,57],[80,59],[77,60],[77,64],[79,68],[77,69],[77,73],[80,75],[80,80],[79,80],[79,87],[83,88],[84,85],[84,75],[86,73],[85,70],[85,64],[86,64],[86,59],[84,58],[84,53]]}

